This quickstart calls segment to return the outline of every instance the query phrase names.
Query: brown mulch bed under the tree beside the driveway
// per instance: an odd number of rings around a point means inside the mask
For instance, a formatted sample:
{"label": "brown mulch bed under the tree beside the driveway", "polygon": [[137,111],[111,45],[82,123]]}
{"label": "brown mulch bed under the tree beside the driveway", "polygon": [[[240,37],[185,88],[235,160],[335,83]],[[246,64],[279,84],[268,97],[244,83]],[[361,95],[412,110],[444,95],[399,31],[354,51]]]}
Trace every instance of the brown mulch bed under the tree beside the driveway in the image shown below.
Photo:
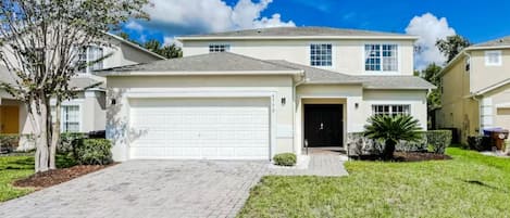
{"label": "brown mulch bed under the tree beside the driveway", "polygon": [[37,172],[28,178],[13,182],[15,187],[35,188],[37,190],[60,184],[74,178],[104,169],[111,165],[78,165],[63,169],[52,169],[45,172]]}

